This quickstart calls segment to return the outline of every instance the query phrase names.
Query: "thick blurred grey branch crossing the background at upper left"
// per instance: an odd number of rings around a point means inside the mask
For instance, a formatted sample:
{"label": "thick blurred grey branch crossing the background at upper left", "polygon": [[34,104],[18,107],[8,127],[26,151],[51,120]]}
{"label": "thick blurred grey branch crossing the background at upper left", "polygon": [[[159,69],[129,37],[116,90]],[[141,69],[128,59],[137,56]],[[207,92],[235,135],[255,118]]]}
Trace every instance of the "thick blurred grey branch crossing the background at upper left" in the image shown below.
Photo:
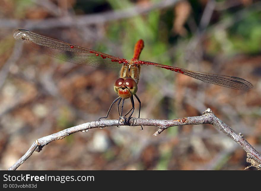
{"label": "thick blurred grey branch crossing the background at upper left", "polygon": [[152,4],[138,4],[128,9],[109,11],[104,13],[97,13],[91,15],[78,15],[75,17],[65,16],[62,18],[50,18],[45,20],[15,20],[15,19],[0,19],[2,28],[17,28],[24,27],[26,29],[44,29],[57,27],[71,27],[71,26],[86,26],[97,23],[105,23],[112,20],[120,20],[130,18],[139,14],[150,12],[154,9],[163,9],[171,7],[180,0],[164,0],[159,3]]}

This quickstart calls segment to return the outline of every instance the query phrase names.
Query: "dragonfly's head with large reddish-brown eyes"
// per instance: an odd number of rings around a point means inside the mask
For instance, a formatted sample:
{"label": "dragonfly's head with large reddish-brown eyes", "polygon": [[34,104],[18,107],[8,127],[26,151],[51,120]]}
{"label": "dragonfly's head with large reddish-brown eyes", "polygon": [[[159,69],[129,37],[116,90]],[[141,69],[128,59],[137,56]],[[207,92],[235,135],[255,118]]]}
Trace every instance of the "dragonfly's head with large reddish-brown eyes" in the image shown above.
{"label": "dragonfly's head with large reddish-brown eyes", "polygon": [[128,99],[131,95],[136,94],[138,86],[132,78],[118,78],[114,83],[114,91],[124,99]]}

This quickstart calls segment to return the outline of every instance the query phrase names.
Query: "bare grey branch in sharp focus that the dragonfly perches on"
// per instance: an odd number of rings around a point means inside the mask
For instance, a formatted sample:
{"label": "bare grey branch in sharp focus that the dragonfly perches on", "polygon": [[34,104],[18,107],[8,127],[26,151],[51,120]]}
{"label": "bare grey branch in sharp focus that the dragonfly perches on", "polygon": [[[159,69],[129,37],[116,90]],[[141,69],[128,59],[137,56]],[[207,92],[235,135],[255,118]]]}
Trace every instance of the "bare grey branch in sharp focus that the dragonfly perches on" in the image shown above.
{"label": "bare grey branch in sharp focus that the dragonfly perches on", "polygon": [[[68,129],[64,129],[57,133],[42,137],[34,141],[29,150],[19,159],[17,162],[12,165],[8,170],[17,169],[26,159],[28,159],[33,152],[36,150],[40,152],[42,148],[52,141],[63,139],[64,137],[69,136],[70,134],[82,131],[87,132],[89,129],[101,128],[104,129],[107,126],[157,126],[159,129],[153,134],[153,136],[159,135],[165,129],[168,129],[172,126],[179,125],[198,125],[209,123],[215,126],[217,129],[227,134],[228,137],[233,139],[238,143],[247,153],[246,161],[251,163],[251,166],[261,169],[261,155],[257,150],[246,141],[242,133],[237,133],[231,129],[227,124],[223,123],[217,116],[212,112],[211,109],[207,109],[203,112],[203,115],[186,117],[174,120],[159,120],[159,119],[141,119],[141,118],[131,118],[129,124],[120,123],[119,120],[101,120],[101,121],[92,121],[88,123],[83,123]],[[248,168],[248,167],[247,167]]]}

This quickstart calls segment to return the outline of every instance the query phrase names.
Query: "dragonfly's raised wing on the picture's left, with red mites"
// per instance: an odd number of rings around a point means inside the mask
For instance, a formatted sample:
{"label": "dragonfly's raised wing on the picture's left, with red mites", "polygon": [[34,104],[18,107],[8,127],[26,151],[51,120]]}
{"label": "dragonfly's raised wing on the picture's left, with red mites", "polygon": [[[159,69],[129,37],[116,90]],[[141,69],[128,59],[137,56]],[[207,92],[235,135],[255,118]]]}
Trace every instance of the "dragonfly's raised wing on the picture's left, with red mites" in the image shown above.
{"label": "dragonfly's raised wing on the picture's left, with red mites", "polygon": [[119,68],[121,66],[120,63],[128,62],[123,58],[114,57],[112,55],[98,52],[92,49],[69,44],[54,38],[27,31],[25,29],[16,30],[14,32],[14,38],[17,40],[24,40],[29,42],[31,46],[34,46],[34,44],[41,45],[41,48],[36,47],[36,49],[52,57],[56,57],[68,62],[73,62],[79,65]]}

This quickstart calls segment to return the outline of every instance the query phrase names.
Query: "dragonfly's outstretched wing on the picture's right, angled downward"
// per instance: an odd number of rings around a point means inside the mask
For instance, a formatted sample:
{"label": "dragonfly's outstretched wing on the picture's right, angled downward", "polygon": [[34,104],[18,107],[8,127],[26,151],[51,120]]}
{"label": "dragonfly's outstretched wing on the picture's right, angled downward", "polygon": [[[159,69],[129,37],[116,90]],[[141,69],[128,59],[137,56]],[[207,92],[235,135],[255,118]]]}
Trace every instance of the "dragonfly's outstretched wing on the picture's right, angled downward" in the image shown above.
{"label": "dragonfly's outstretched wing on the picture's right, angled downward", "polygon": [[196,71],[191,71],[191,70],[187,70],[187,69],[183,69],[183,68],[177,68],[174,66],[158,64],[156,62],[139,61],[139,64],[158,66],[161,68],[165,68],[167,70],[172,70],[172,71],[175,71],[175,72],[178,72],[181,74],[185,74],[187,76],[190,76],[192,78],[195,78],[195,79],[203,81],[203,82],[216,84],[216,85],[224,86],[227,88],[240,89],[240,90],[248,90],[248,89],[253,88],[253,85],[249,81],[246,81],[243,78],[238,78],[235,76],[223,76],[223,75],[219,75],[219,74],[196,72]]}

